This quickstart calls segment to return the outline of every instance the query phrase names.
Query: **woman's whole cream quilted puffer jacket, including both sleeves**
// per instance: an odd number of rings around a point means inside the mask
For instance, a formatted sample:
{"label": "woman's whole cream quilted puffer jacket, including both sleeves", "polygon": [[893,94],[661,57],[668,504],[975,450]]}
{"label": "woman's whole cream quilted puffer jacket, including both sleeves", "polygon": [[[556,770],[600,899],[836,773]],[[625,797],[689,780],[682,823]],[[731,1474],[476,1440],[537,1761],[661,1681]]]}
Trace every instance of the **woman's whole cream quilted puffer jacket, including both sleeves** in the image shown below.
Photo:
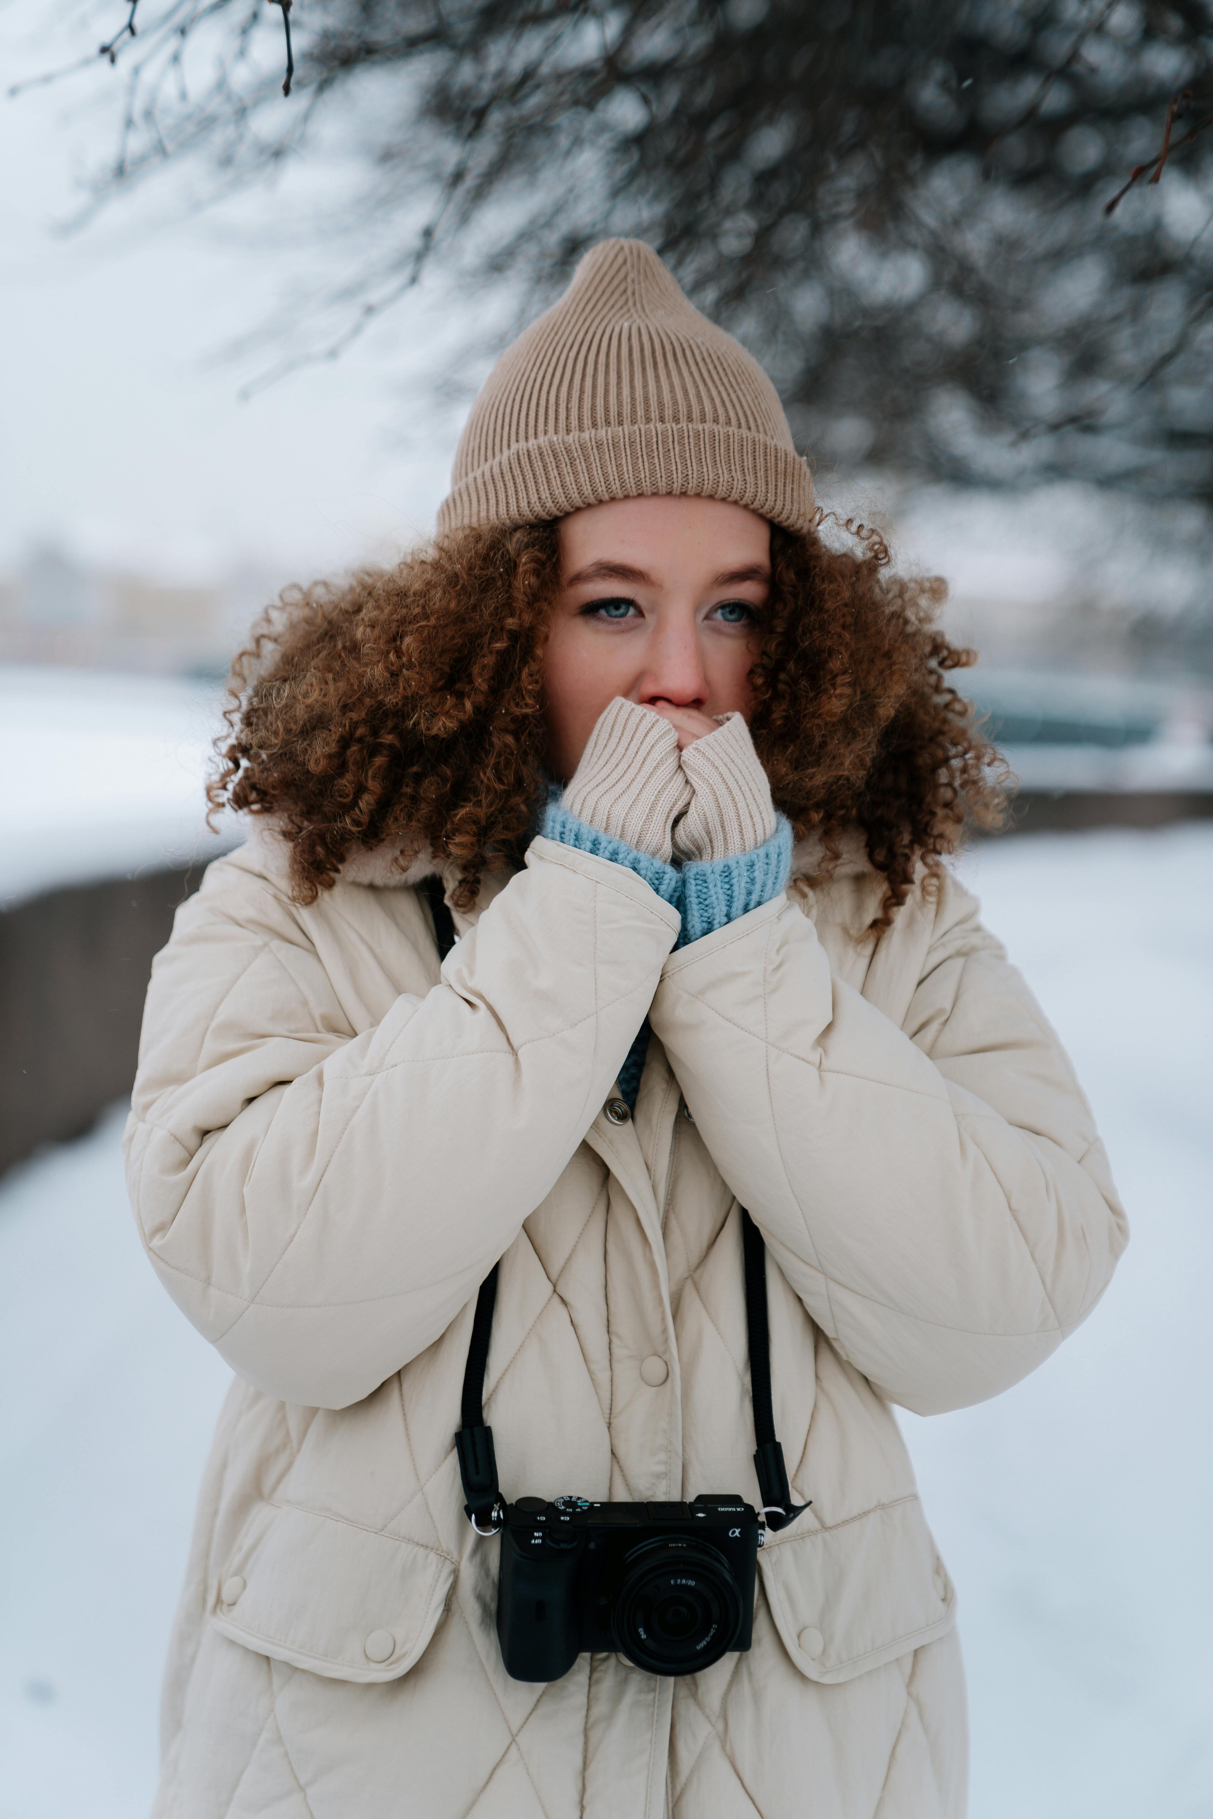
{"label": "woman's whole cream quilted puffer jacket, including both sleeves", "polygon": [[[862,860],[675,950],[546,839],[438,966],[407,877],[311,908],[213,864],[147,1002],[129,1179],[236,1372],[165,1690],[160,1819],[942,1819],[953,1586],[891,1404],[997,1395],[1126,1241],[1057,1037],[955,879],[873,939]],[[651,1015],[635,1117],[606,1115]],[[615,1111],[618,1117],[618,1110]],[[753,1648],[511,1681],[453,1435],[476,1288],[507,1497],[758,1502],[738,1204],[797,1502]]]}

